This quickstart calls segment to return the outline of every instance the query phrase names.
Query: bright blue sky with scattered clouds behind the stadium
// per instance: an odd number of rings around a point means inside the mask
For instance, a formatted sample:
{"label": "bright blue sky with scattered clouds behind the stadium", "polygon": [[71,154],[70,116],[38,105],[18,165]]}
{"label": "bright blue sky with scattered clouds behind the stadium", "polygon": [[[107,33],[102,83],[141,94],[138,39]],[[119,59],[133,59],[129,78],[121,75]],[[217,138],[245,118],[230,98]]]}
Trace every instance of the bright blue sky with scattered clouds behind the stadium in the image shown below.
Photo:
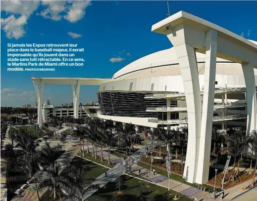
{"label": "bright blue sky with scattered clouds behind the stadium", "polygon": [[[169,8],[170,14],[183,10],[257,40],[257,1],[169,1]],[[7,43],[77,43],[85,49],[76,54],[84,58],[83,67],[56,67],[33,72],[34,77],[111,78],[142,56],[172,46],[151,32],[166,17],[165,0],[1,1],[1,106],[35,102],[32,72],[7,71]],[[80,102],[96,100],[98,88],[82,86]],[[54,105],[71,102],[70,86],[45,86],[44,99]]]}

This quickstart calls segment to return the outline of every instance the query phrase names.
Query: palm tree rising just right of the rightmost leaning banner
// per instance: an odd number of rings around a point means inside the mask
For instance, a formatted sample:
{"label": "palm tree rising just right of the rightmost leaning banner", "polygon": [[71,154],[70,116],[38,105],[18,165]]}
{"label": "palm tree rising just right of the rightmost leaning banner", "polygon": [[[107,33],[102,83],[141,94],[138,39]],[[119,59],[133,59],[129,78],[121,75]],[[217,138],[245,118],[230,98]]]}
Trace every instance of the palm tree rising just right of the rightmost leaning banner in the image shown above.
{"label": "palm tree rising just right of the rightmost leaning banner", "polygon": [[[227,139],[227,141],[229,142],[229,153],[234,157],[233,172],[235,173],[236,158],[241,155],[247,145],[246,135],[243,134],[241,130],[236,130],[235,133]],[[236,175],[238,175],[239,172],[239,160],[240,159],[238,159]]]}

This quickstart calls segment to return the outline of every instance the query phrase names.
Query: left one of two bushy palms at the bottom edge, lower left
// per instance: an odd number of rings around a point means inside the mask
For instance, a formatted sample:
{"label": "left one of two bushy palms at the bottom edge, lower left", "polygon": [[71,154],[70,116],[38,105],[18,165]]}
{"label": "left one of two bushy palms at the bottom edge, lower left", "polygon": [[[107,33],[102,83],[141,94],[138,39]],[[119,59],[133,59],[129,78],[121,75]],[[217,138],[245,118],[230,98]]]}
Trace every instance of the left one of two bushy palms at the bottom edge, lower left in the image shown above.
{"label": "left one of two bushy palms at the bottom edge, lower left", "polygon": [[71,188],[70,181],[72,178],[66,172],[61,170],[59,163],[55,164],[54,167],[49,167],[42,172],[40,177],[39,189],[48,189],[53,193],[53,200],[56,200],[56,192],[59,193],[61,200],[61,190],[66,189],[67,191]]}

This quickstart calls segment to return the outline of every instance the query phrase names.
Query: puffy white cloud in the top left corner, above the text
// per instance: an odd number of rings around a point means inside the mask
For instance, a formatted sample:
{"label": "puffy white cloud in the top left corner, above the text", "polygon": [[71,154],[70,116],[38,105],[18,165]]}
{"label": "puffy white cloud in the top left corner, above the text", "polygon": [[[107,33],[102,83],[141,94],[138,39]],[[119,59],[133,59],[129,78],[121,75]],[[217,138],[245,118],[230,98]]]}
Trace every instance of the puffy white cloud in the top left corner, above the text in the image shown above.
{"label": "puffy white cloud in the top left corner, above the text", "polygon": [[[7,0],[1,1],[1,11],[10,16],[1,18],[1,28],[9,39],[19,39],[25,35],[24,26],[30,15],[38,8],[37,0]],[[14,15],[15,14],[15,15]]]}

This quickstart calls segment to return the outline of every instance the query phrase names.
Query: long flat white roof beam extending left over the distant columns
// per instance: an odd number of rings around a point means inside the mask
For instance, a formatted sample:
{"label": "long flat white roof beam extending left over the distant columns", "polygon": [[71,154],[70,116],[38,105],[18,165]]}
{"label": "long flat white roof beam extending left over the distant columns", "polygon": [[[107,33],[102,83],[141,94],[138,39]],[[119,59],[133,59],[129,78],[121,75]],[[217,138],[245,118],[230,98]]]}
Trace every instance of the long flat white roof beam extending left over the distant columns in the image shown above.
{"label": "long flat white roof beam extending left over the distant columns", "polygon": [[101,85],[106,82],[113,81],[112,79],[101,79],[101,78],[31,78],[35,84],[44,85]]}

